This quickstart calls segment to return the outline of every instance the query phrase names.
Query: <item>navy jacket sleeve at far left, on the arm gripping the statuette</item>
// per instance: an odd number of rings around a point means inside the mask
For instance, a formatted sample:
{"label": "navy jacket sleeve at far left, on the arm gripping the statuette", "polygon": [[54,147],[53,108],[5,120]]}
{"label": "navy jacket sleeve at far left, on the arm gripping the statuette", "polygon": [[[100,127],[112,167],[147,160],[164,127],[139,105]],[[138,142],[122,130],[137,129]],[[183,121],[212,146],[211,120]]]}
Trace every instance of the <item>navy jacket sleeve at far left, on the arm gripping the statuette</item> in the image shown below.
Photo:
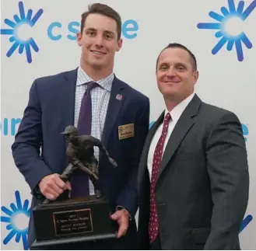
{"label": "navy jacket sleeve at far left, on the arm gripping the statuette", "polygon": [[40,156],[42,144],[42,110],[38,99],[37,80],[35,80],[30,88],[29,101],[12,144],[14,162],[35,195],[38,193],[37,184],[40,180],[52,173]]}

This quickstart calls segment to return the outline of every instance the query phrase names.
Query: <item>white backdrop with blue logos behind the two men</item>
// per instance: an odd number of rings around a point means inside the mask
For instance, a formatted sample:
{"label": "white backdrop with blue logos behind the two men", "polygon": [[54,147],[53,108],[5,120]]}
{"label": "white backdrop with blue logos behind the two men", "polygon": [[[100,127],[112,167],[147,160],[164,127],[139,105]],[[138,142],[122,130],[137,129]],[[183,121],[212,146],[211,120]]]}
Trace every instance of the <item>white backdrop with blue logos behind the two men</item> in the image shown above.
{"label": "white backdrop with blue logos behind the two men", "polygon": [[[13,163],[10,148],[23,116],[30,85],[40,76],[78,66],[80,47],[72,37],[75,30],[79,29],[81,13],[92,2],[96,1],[2,0],[2,249],[27,249],[26,228],[30,210],[30,190]],[[256,249],[256,221],[253,219],[256,215],[256,199],[253,197],[253,191],[256,190],[256,155],[253,152],[256,147],[256,120],[253,115],[256,110],[256,1],[244,1],[244,6],[242,1],[233,0],[102,2],[117,9],[124,23],[124,45],[117,53],[114,71],[118,78],[149,96],[151,121],[156,120],[164,108],[162,96],[156,88],[156,57],[162,48],[171,42],[184,44],[195,53],[200,74],[196,92],[202,100],[237,113],[244,128],[251,178],[251,196],[241,226],[240,240],[242,249]],[[19,23],[18,17],[23,17],[22,7],[25,9],[25,16],[28,10],[32,9],[32,17],[42,9],[33,27],[27,26],[26,22]],[[222,20],[212,13],[223,16],[225,9],[222,7],[231,12],[230,19],[225,17]],[[242,7],[244,12],[240,11]],[[209,16],[209,12],[219,21]],[[127,21],[129,24],[125,23],[126,20],[130,20]],[[218,30],[199,29],[198,23],[219,23],[220,20],[222,23],[219,29],[225,34],[223,39],[230,39],[229,33],[239,35],[235,37],[236,43],[239,44],[240,34],[244,32],[251,41],[251,49],[242,45],[243,61],[237,59],[235,45],[228,51],[225,44],[217,54],[212,54],[212,48],[221,40],[221,37],[215,36]],[[14,37],[10,34],[12,32]],[[39,51],[31,50],[32,62],[29,63],[26,51],[22,51],[22,44],[30,37],[36,42]],[[19,42],[18,47],[16,51],[8,54],[10,48],[13,49],[15,40]]]}

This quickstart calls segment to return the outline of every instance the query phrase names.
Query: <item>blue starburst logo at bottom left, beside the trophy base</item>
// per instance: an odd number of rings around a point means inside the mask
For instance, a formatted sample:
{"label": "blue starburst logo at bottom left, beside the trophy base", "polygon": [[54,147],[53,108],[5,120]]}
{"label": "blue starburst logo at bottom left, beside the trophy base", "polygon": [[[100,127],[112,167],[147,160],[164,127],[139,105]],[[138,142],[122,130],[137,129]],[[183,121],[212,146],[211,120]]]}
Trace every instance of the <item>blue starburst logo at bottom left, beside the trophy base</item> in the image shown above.
{"label": "blue starburst logo at bottom left, beside the trophy base", "polygon": [[8,244],[12,238],[15,238],[16,242],[20,242],[22,239],[23,249],[28,250],[27,246],[27,230],[28,227],[20,227],[17,224],[17,218],[30,218],[29,200],[24,200],[22,204],[19,191],[15,192],[16,204],[11,203],[10,208],[2,207],[2,212],[8,216],[1,216],[1,222],[7,223],[6,229],[9,230],[9,234],[3,240],[3,244]]}

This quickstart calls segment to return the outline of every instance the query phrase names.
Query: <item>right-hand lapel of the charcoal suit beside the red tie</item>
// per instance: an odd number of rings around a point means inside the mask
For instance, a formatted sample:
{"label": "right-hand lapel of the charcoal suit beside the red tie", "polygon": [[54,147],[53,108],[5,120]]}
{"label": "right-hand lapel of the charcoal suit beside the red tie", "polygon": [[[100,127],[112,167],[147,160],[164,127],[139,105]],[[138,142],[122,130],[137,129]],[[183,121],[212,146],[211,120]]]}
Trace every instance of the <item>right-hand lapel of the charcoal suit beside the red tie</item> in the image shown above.
{"label": "right-hand lapel of the charcoal suit beside the red tie", "polygon": [[163,153],[163,159],[160,164],[158,179],[163,173],[163,170],[166,168],[168,162],[170,162],[170,159],[173,157],[174,152],[181,144],[181,141],[185,135],[188,133],[193,124],[195,124],[195,116],[198,114],[198,108],[200,104],[201,100],[197,95],[195,95],[191,100],[191,103],[188,104],[184,112],[181,114],[180,119],[177,121],[177,124],[174,127],[174,131],[172,131],[167,142],[167,147]]}

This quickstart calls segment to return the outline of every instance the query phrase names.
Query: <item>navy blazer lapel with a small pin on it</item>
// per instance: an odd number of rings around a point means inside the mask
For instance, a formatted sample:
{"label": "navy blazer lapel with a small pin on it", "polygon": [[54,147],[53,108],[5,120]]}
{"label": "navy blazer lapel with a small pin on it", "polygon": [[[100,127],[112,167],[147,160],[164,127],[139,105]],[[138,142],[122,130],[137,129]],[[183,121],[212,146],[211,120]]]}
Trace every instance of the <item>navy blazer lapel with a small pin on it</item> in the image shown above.
{"label": "navy blazer lapel with a small pin on it", "polygon": [[[114,81],[110,93],[110,101],[107,107],[107,117],[105,120],[103,134],[101,141],[108,147],[109,137],[113,130],[114,123],[117,120],[118,114],[120,113],[121,106],[125,99],[125,89],[123,83],[114,76]],[[117,96],[118,95],[118,96]]]}

